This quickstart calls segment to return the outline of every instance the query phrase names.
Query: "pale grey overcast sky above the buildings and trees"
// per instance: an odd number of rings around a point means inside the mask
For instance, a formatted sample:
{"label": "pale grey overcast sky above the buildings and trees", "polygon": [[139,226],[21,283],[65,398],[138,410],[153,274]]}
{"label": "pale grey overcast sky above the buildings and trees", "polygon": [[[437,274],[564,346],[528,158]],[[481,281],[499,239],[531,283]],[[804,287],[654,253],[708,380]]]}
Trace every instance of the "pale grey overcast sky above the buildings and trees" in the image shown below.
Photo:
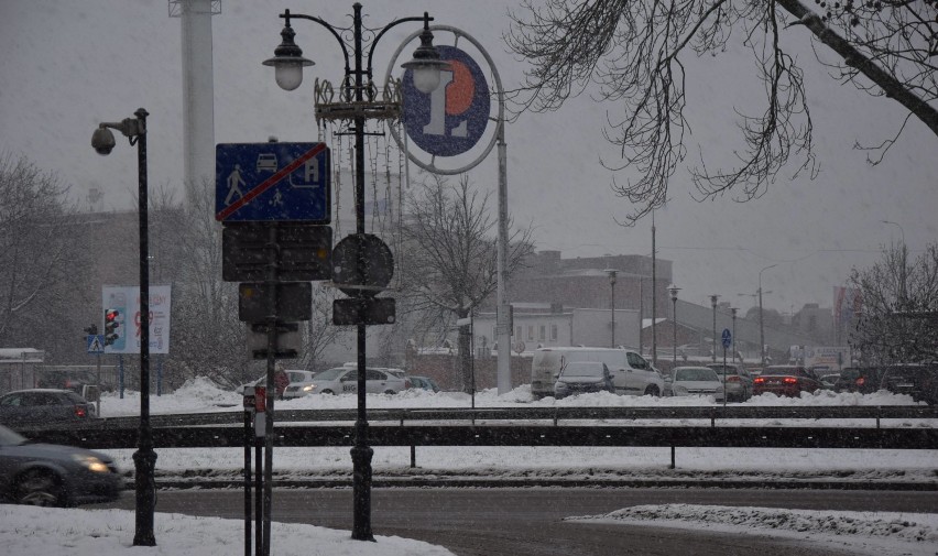
{"label": "pale grey overcast sky above the buildings and trees", "polygon": [[[493,58],[506,88],[521,79],[523,63],[506,53],[506,2],[434,0],[366,2],[367,24],[380,28],[397,17],[421,15],[458,28]],[[314,77],[338,81],[341,54],[335,39],[310,22],[297,21],[297,43],[316,66],[292,92],[277,88],[273,69],[261,62],[280,43],[284,8],[350,25],[351,2],[257,2],[221,0],[212,19],[216,142],[315,141]],[[393,11],[392,11],[393,9]],[[118,139],[108,157],[95,154],[90,137],[100,121],[131,117],[146,108],[150,184],[178,187],[183,181],[183,121],[179,19],[163,0],[4,0],[0,2],[0,152],[25,154],[72,184],[76,198],[90,188],[106,193],[105,207],[130,209],[137,189],[137,156]],[[383,76],[397,44],[418,26],[397,28],[381,40],[375,73]],[[789,44],[805,42],[803,28],[785,31]],[[451,44],[451,35],[438,43]],[[467,46],[465,43],[460,47]],[[717,58],[687,57],[688,112],[698,144],[717,163],[729,163],[738,131],[731,106],[752,105],[761,84],[754,63],[738,44]],[[408,47],[402,56],[410,57]],[[466,48],[470,51],[470,48]],[[770,190],[745,204],[730,196],[698,203],[687,172],[670,184],[670,201],[656,215],[658,257],[674,261],[683,298],[709,305],[707,295],[748,309],[763,273],[764,304],[783,313],[805,303],[830,306],[832,286],[852,266],[868,266],[880,250],[905,236],[914,254],[938,240],[938,139],[910,120],[879,166],[870,166],[855,142],[876,144],[902,124],[894,101],[871,98],[836,84],[812,58],[796,52],[805,68],[820,174],[814,181],[783,172]],[[403,59],[402,59],[403,61]],[[401,62],[402,62],[401,61]],[[482,63],[483,61],[480,61]],[[621,227],[632,207],[610,188],[612,174],[600,157],[618,162],[601,133],[607,110],[588,97],[560,111],[523,115],[506,128],[509,210],[517,224],[533,224],[539,250],[565,258],[604,253],[651,254],[651,221]],[[348,143],[346,143],[348,144]],[[416,168],[413,170],[416,172]],[[480,188],[494,190],[494,152],[470,173]],[[634,179],[629,171],[617,181]],[[87,206],[87,201],[86,201]],[[883,224],[892,220],[898,226]],[[772,293],[768,294],[767,292]]]}

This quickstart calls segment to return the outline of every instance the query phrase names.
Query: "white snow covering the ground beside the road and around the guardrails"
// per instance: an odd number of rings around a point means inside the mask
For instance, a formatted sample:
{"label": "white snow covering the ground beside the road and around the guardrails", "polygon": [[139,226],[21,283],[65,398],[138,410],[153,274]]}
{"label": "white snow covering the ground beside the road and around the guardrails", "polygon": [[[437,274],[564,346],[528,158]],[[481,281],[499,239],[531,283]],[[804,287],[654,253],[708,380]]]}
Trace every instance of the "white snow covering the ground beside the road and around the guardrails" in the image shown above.
{"label": "white snow covering the ground beside the road and around the guardrails", "polygon": [[[468,395],[423,391],[395,396],[369,395],[369,407],[469,407]],[[886,393],[871,395],[821,392],[800,399],[766,394],[751,405],[908,405],[912,400]],[[277,401],[282,410],[351,408],[353,395],[308,396]],[[653,399],[591,394],[560,401],[531,401],[525,388],[499,396],[480,392],[477,407],[505,406],[650,406],[712,405],[707,397]],[[219,390],[206,380],[194,380],[173,394],[151,397],[151,412],[185,413],[232,411],[241,396]],[[106,395],[103,416],[137,415],[135,392]],[[838,419],[851,426],[848,419]],[[826,423],[827,424],[827,423]],[[870,423],[864,423],[870,426]],[[883,426],[934,427],[928,419],[890,419]],[[118,465],[131,470],[133,450],[108,450]],[[243,464],[241,448],[157,449],[157,476],[179,476],[198,470],[208,476],[236,477]],[[323,477],[351,472],[347,448],[276,448],[274,470],[279,478]],[[375,448],[377,477],[395,475],[568,477],[602,478],[734,478],[752,480],[830,480],[927,482],[938,480],[938,450],[853,449],[698,449],[678,448],[677,469],[668,469],[667,448],[417,448],[417,469],[410,468],[407,448]],[[157,479],[159,480],[159,479]],[[275,503],[274,497],[274,503]],[[606,515],[569,516],[576,521],[653,524],[690,530],[727,531],[746,535],[772,535],[800,539],[854,554],[877,556],[938,554],[938,514],[864,513],[839,511],[723,508],[686,504],[624,508]],[[132,544],[132,512],[118,510],[52,510],[0,505],[0,546],[6,554],[61,554],[74,556],[126,554]],[[157,546],[138,547],[141,555],[229,555],[241,552],[242,522],[156,514]],[[413,555],[437,556],[448,550],[426,543],[379,537],[378,543],[350,539],[349,532],[312,525],[274,524],[277,555]]]}

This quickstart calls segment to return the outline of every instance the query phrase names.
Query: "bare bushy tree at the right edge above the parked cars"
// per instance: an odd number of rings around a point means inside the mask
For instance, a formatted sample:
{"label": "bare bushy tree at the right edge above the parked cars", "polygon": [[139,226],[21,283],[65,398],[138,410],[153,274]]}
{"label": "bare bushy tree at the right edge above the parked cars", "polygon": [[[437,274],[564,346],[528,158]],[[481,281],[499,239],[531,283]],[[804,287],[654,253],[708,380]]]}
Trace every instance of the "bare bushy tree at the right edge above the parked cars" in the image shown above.
{"label": "bare bushy tree at the right edge above the parked cars", "polygon": [[905,244],[890,246],[869,269],[854,269],[862,312],[851,345],[870,363],[938,359],[938,243],[909,261]]}

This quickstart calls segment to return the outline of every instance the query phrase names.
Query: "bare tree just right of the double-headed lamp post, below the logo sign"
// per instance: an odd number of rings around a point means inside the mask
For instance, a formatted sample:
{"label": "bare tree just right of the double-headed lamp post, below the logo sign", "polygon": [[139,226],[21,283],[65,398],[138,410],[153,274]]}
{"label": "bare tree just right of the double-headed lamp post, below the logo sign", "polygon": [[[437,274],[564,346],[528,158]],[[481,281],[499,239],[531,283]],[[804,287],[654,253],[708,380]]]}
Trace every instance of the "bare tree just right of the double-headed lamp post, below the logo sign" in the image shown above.
{"label": "bare tree just right of the double-headed lamp post, below the logo sign", "polygon": [[[446,329],[452,317],[466,318],[498,286],[498,249],[491,237],[495,220],[480,195],[460,176],[449,185],[434,175],[406,195],[402,227],[404,306],[427,325]],[[533,251],[531,228],[514,230],[509,238],[506,274]],[[462,390],[471,389],[469,326],[459,328]]]}

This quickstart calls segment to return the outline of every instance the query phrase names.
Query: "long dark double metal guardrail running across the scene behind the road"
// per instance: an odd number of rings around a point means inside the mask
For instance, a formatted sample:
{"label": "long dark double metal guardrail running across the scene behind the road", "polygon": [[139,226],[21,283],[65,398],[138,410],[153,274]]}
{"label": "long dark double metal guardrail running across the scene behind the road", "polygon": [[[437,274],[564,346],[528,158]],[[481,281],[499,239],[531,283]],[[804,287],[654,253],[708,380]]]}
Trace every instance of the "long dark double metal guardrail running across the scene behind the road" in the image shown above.
{"label": "long dark double metal guardrail running across the scene behind the road", "polygon": [[[276,412],[275,446],[351,446],[356,410]],[[938,418],[935,406],[819,407],[477,407],[377,408],[372,446],[645,446],[726,448],[938,449],[938,427],[882,427],[887,418]],[[874,419],[871,426],[753,425],[734,419]],[[241,411],[154,415],[157,448],[242,446]],[[579,421],[602,421],[583,425]],[[710,426],[642,421],[710,419]],[[720,419],[719,426],[717,421]],[[547,421],[549,424],[544,424]],[[338,424],[338,423],[348,424]],[[445,422],[440,424],[440,422]],[[467,423],[468,422],[468,423]],[[523,423],[519,423],[523,422]],[[626,422],[626,423],[623,423]],[[133,448],[137,417],[106,417],[17,429],[36,441],[98,449]],[[673,450],[672,450],[673,451]]]}

